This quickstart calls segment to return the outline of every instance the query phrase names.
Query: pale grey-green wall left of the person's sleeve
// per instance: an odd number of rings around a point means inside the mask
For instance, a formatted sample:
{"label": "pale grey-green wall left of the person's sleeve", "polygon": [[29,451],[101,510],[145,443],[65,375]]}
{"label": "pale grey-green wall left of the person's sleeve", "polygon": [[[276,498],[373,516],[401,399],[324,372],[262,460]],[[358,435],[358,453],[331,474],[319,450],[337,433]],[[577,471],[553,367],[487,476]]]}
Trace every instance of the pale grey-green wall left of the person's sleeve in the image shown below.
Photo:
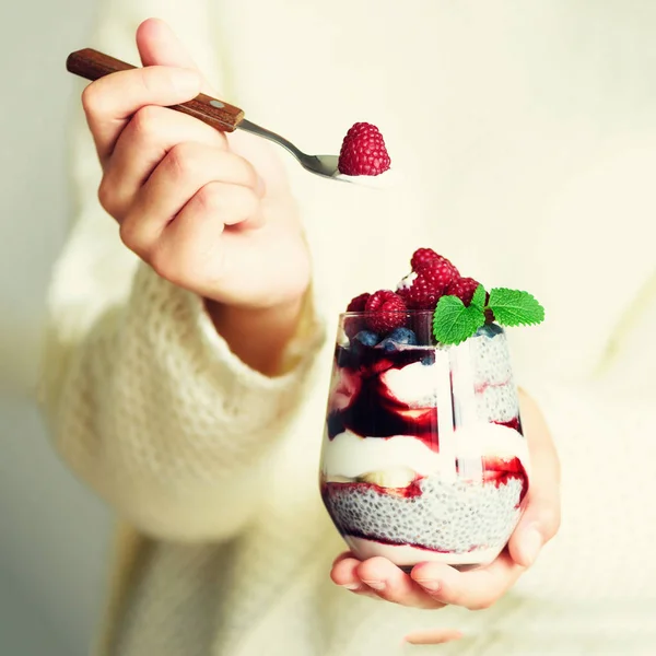
{"label": "pale grey-green wall left of the person's sleeve", "polygon": [[51,452],[31,400],[43,300],[69,219],[67,115],[94,0],[0,2],[0,655],[82,656],[109,518]]}

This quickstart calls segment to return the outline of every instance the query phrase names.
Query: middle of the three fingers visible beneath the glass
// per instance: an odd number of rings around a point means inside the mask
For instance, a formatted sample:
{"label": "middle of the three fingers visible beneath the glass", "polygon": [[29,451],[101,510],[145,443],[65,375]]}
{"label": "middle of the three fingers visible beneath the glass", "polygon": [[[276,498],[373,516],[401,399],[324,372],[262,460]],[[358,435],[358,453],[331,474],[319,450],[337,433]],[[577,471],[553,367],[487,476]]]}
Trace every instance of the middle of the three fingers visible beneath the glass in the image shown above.
{"label": "middle of the three fingers visible beneath the glass", "polygon": [[385,558],[371,558],[362,562],[358,567],[358,576],[387,601],[414,608],[442,608],[444,606]]}

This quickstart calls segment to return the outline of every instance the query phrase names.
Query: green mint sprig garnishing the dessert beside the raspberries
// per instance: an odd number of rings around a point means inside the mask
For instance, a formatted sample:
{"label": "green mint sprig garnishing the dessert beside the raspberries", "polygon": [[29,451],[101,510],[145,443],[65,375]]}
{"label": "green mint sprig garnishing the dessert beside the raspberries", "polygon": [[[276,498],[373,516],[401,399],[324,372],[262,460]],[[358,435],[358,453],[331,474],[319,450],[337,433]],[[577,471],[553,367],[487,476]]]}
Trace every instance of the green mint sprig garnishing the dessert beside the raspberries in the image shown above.
{"label": "green mint sprig garnishing the dessert beside the raspberries", "polygon": [[459,344],[473,337],[490,316],[501,326],[532,326],[544,320],[544,308],[528,292],[494,288],[485,303],[485,289],[477,288],[465,306],[457,296],[442,296],[433,315],[433,336],[443,344]]}

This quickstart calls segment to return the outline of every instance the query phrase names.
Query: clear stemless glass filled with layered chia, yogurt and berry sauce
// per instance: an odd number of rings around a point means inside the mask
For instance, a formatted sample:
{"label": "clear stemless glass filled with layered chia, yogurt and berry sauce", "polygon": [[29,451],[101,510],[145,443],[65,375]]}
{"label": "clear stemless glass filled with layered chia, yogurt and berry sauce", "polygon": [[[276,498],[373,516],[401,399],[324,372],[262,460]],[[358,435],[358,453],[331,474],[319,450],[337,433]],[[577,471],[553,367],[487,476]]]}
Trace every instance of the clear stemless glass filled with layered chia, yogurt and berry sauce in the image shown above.
{"label": "clear stemless glass filled with layered chia, yogurt and berry sauce", "polygon": [[390,321],[402,327],[374,332],[371,315],[340,315],[321,496],[361,559],[484,565],[507,543],[528,490],[506,336],[487,324],[443,345],[432,318],[407,312]]}

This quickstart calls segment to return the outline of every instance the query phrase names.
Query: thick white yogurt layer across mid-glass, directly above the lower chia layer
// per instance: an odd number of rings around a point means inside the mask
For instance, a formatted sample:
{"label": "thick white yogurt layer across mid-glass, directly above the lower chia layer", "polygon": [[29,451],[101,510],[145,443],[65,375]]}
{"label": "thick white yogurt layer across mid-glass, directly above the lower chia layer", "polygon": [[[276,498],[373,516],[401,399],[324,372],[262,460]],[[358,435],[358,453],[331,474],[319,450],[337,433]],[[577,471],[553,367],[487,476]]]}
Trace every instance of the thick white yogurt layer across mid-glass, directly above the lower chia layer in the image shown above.
{"label": "thick white yogurt layer across mid-glass, directly above the lower chia layer", "polygon": [[[393,483],[385,487],[405,487],[398,484],[402,480],[405,469],[419,476],[444,473],[453,477],[455,462],[429,448],[421,440],[409,435],[394,437],[361,437],[351,431],[344,431],[329,440],[324,437],[321,469],[327,480],[354,480],[372,472],[390,472]],[[449,454],[461,460],[461,467],[482,467],[481,456],[494,456],[511,459],[519,458],[528,472],[528,448],[524,437],[514,429],[497,424],[480,423],[467,429],[459,429],[448,435],[440,435],[441,445]],[[470,458],[470,462],[464,459]],[[396,475],[395,475],[396,472]],[[467,476],[467,471],[462,472]],[[412,477],[406,482],[410,482]],[[380,484],[380,483],[379,483]]]}

